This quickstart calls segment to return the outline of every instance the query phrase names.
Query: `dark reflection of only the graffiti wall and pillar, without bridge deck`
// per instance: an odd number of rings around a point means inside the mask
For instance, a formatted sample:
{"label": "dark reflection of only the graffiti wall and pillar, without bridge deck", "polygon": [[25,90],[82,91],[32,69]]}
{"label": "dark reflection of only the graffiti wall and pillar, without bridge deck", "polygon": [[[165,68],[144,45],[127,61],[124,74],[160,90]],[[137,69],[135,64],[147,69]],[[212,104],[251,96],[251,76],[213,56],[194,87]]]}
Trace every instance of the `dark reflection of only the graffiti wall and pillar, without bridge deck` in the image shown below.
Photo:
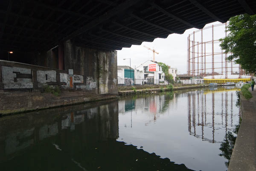
{"label": "dark reflection of only the graffiti wall and pillar, without bridge deck", "polygon": [[[71,136],[69,130],[74,132],[73,134],[79,132],[78,136],[93,134],[90,138],[94,141],[116,140],[119,137],[118,102],[115,100],[108,103],[87,109],[83,105],[70,107],[71,109],[67,107],[68,111],[65,111],[66,108],[50,109],[41,111],[40,116],[35,112],[25,116],[17,115],[9,119],[9,123],[12,123],[9,125],[0,120],[0,162],[8,160],[12,155],[41,140],[60,136],[69,143],[67,138]],[[64,112],[58,111],[61,109]],[[54,119],[56,117],[59,119]],[[20,118],[24,121],[22,124],[19,122]],[[37,124],[38,122],[43,124]],[[25,129],[22,130],[20,127]]]}

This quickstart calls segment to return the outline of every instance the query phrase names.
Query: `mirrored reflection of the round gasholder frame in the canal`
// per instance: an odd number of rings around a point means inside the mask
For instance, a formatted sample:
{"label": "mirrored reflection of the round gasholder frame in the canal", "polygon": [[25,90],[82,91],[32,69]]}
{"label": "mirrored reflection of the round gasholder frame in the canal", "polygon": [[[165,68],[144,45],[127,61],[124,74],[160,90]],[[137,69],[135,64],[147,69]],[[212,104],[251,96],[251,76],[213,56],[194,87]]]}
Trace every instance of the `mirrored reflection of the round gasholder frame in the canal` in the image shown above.
{"label": "mirrored reflection of the round gasholder frame in the canal", "polygon": [[[221,142],[219,131],[233,128],[233,117],[240,111],[233,108],[234,90],[192,91],[188,93],[189,134],[208,142]],[[221,93],[221,96],[215,96]],[[217,138],[216,138],[217,136]]]}

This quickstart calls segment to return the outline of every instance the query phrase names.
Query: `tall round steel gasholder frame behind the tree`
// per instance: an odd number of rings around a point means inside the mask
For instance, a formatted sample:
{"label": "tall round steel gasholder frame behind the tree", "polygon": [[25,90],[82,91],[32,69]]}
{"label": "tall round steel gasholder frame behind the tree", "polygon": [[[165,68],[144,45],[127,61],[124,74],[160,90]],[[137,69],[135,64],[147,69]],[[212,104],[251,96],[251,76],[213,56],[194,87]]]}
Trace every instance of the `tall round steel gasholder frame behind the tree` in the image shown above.
{"label": "tall round steel gasholder frame behind the tree", "polygon": [[[245,74],[240,65],[226,60],[232,53],[225,53],[219,46],[221,43],[219,39],[227,36],[227,24],[221,23],[208,26],[189,34],[187,43],[188,75],[212,75],[212,79],[214,79],[214,75],[225,74],[225,78],[227,79],[228,74],[239,74],[239,78]],[[216,31],[216,27],[219,26],[225,26],[225,28],[218,28],[221,31]],[[223,37],[220,37],[220,32],[224,34]]]}

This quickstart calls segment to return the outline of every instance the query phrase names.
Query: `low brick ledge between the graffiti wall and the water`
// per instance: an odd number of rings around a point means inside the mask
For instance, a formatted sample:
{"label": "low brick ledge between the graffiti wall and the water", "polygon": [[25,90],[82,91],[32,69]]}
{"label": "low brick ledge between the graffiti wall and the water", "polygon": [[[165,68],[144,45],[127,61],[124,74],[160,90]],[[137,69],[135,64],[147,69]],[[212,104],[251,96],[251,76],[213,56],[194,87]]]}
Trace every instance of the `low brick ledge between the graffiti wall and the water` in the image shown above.
{"label": "low brick ledge between the graffiti wall and the water", "polygon": [[118,95],[90,94],[84,91],[65,91],[61,92],[61,96],[40,92],[0,92],[0,114],[23,113],[113,98],[118,98]]}

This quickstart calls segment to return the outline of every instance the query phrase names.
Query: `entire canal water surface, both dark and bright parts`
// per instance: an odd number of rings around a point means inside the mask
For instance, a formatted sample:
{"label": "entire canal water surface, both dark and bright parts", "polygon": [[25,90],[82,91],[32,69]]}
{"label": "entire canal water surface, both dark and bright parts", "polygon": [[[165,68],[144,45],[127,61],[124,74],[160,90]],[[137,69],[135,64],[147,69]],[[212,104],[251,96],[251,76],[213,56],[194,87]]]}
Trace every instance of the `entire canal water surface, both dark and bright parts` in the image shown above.
{"label": "entire canal water surface, both dark and bright parts", "polygon": [[226,171],[238,89],[140,94],[0,118],[1,171]]}

